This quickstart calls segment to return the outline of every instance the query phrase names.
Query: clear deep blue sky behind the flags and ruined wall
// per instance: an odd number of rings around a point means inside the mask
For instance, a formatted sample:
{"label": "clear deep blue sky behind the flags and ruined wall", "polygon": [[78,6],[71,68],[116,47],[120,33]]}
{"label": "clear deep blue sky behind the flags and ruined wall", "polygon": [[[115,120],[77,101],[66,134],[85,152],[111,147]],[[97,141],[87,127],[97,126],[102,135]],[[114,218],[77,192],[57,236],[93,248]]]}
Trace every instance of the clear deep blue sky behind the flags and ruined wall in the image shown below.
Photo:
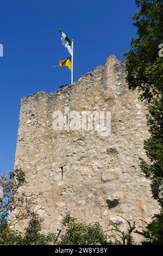
{"label": "clear deep blue sky behind the flags and ruined wall", "polygon": [[8,0],[0,9],[0,174],[6,174],[14,166],[21,97],[70,83],[67,67],[52,68],[69,57],[58,29],[74,39],[76,81],[109,54],[123,59],[137,9],[134,0]]}

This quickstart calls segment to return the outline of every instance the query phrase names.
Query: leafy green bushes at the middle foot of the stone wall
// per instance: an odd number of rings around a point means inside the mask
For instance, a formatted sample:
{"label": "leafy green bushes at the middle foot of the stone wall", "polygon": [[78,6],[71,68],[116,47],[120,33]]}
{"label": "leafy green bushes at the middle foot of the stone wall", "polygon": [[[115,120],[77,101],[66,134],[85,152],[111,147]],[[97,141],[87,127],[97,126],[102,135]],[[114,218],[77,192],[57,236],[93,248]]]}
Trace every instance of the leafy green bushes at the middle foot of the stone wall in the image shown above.
{"label": "leafy green bushes at the middle foot of the stone wall", "polygon": [[[124,220],[126,220],[124,218]],[[118,225],[111,224],[113,228],[107,231],[115,231],[115,235],[106,236],[99,223],[86,225],[80,223],[76,218],[71,217],[69,213],[62,221],[64,233],[61,234],[58,245],[134,245],[133,232],[135,222],[131,225],[130,221],[127,231],[121,231]]]}

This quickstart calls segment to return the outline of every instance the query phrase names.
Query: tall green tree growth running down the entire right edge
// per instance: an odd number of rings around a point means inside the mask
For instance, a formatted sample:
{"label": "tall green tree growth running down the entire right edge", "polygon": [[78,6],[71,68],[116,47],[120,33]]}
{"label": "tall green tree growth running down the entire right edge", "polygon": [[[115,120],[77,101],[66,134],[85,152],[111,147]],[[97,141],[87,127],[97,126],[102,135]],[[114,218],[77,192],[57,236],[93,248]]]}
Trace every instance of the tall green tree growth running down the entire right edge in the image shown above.
{"label": "tall green tree growth running down the entire right edge", "polygon": [[[163,57],[159,54],[163,44],[163,1],[136,0],[136,5],[138,12],[133,15],[133,21],[137,37],[131,38],[131,49],[124,53],[127,82],[129,89],[137,88],[141,100],[148,103],[147,124],[151,136],[144,142],[148,161],[140,159],[141,169],[151,180],[153,198],[163,210],[159,193],[163,184]],[[152,244],[161,244],[162,210],[144,233]]]}

